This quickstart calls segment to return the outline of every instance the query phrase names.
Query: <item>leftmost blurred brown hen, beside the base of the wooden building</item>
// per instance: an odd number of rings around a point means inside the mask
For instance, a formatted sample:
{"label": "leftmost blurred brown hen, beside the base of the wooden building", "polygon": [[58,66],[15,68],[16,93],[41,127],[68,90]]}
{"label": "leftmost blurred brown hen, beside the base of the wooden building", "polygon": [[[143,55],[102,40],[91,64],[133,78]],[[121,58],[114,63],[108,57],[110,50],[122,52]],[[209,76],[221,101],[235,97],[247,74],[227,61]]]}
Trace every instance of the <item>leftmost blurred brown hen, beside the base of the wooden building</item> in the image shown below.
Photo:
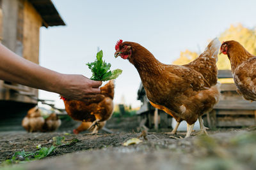
{"label": "leftmost blurred brown hen, beside the base of the wooden building", "polygon": [[26,117],[22,120],[22,127],[28,132],[39,132],[42,131],[45,120],[41,116],[40,110],[37,106],[31,108],[28,111]]}

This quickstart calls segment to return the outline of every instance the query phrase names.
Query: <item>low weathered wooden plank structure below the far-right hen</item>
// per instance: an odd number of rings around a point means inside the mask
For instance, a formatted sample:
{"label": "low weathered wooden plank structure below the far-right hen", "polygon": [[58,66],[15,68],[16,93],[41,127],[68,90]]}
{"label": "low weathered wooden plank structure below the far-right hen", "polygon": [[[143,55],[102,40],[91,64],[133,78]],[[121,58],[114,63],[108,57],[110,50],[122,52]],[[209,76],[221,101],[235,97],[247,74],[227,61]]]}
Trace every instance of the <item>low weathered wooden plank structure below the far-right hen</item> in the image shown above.
{"label": "low weathered wooden plank structure below the far-right hen", "polygon": [[[232,78],[232,73],[230,70],[219,70],[218,78]],[[255,125],[256,104],[237,94],[234,83],[221,83],[220,102],[203,118],[204,124],[210,128]]]}

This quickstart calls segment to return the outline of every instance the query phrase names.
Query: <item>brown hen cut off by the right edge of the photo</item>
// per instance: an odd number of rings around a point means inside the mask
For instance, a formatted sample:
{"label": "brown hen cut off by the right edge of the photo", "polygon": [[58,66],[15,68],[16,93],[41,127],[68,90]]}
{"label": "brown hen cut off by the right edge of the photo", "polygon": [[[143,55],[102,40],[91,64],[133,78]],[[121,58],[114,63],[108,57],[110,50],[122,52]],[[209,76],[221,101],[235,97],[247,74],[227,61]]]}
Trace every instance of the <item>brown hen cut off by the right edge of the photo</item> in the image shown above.
{"label": "brown hen cut off by the right edge of the photo", "polygon": [[225,41],[220,53],[228,55],[237,92],[244,99],[256,101],[256,57],[237,41]]}

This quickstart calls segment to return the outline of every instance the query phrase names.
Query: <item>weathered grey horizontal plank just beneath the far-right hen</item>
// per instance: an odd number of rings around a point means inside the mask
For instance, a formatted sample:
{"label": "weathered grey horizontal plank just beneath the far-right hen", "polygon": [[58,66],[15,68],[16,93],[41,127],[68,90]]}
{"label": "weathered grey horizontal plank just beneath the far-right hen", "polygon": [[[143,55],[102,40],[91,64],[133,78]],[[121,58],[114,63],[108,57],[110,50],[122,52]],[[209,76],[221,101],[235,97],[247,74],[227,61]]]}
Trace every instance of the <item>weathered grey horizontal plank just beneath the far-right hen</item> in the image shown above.
{"label": "weathered grey horizontal plank just beneath the far-right hen", "polygon": [[217,110],[256,110],[256,104],[250,101],[220,101],[214,106]]}

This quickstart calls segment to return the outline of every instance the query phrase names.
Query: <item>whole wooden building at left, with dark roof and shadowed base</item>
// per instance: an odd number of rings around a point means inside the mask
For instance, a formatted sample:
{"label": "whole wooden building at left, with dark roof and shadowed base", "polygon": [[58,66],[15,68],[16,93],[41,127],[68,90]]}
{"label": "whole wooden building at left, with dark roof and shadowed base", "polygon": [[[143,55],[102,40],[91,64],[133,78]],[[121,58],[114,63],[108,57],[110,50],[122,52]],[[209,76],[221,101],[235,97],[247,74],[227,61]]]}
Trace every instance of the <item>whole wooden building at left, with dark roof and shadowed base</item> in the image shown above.
{"label": "whole wooden building at left, with dark roof and shadowed base", "polygon": [[[51,0],[0,0],[0,41],[13,52],[38,64],[40,27],[65,25]],[[38,90],[0,80],[0,126],[19,124],[37,104]],[[10,121],[8,121],[10,120]]]}

